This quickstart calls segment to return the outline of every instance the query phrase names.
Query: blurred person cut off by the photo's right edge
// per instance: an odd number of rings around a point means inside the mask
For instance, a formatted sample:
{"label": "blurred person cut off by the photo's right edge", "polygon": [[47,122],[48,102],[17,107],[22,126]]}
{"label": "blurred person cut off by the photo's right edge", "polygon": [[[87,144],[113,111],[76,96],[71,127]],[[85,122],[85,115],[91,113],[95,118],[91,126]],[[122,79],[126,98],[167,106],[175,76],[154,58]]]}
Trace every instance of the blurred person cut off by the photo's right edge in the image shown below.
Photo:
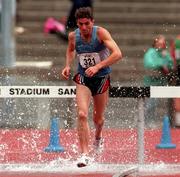
{"label": "blurred person cut off by the photo's right edge", "polygon": [[[180,86],[180,35],[171,43],[171,56],[175,63],[176,86]],[[173,99],[174,105],[174,125],[180,126],[180,98]]]}

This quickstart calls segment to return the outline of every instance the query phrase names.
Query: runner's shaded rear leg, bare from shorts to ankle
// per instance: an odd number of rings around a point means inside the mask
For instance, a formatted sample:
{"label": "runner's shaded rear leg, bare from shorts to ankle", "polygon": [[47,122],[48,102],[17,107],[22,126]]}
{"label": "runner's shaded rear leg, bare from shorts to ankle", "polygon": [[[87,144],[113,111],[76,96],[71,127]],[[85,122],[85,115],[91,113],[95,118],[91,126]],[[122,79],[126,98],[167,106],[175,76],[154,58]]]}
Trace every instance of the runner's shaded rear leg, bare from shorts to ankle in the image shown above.
{"label": "runner's shaded rear leg, bare from shorts to ankle", "polygon": [[104,124],[104,111],[107,105],[109,97],[109,90],[102,94],[95,95],[93,97],[94,101],[94,112],[93,121],[96,128],[95,138],[100,139],[102,137],[102,128]]}

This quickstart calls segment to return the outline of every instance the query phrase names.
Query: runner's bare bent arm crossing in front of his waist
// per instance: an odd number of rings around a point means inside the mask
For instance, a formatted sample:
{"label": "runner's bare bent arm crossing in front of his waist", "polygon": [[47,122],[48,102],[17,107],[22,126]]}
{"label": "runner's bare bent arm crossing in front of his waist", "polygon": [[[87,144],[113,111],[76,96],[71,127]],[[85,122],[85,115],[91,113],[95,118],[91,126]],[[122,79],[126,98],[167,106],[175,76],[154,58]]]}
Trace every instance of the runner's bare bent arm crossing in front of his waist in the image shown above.
{"label": "runner's bare bent arm crossing in front of his waist", "polygon": [[101,61],[95,66],[89,67],[86,70],[86,74],[89,77],[92,77],[100,69],[112,65],[122,58],[121,50],[119,49],[116,42],[113,40],[110,33],[106,29],[99,27],[97,34],[99,40],[104,42],[105,46],[110,50],[111,54],[107,59]]}

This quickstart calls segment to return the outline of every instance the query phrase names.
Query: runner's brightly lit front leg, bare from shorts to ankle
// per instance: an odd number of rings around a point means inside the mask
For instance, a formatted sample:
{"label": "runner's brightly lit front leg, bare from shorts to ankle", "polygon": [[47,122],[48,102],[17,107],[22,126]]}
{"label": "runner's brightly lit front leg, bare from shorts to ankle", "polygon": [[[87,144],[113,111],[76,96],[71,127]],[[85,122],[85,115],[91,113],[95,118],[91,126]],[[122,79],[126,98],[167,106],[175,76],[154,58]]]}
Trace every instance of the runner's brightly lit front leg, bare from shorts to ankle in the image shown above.
{"label": "runner's brightly lit front leg, bare from shorts to ankle", "polygon": [[89,144],[89,125],[88,125],[88,110],[91,99],[90,90],[80,84],[76,84],[76,101],[78,113],[78,135],[82,153],[88,153]]}

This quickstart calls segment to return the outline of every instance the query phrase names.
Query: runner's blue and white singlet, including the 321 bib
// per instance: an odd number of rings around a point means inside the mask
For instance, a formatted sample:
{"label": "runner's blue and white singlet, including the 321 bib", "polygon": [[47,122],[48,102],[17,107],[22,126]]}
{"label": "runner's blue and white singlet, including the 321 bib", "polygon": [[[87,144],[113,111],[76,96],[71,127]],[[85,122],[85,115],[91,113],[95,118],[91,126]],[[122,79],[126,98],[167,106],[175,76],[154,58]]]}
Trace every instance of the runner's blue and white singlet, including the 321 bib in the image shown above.
{"label": "runner's blue and white singlet, including the 321 bib", "polygon": [[[97,26],[93,26],[92,37],[90,42],[85,42],[81,38],[79,28],[75,30],[75,49],[78,59],[78,73],[85,76],[85,70],[90,67],[98,64],[102,60],[106,59],[109,55],[109,49],[103,44],[100,43],[97,38]],[[93,77],[101,77],[109,74],[111,68],[104,67],[98,71]]]}

